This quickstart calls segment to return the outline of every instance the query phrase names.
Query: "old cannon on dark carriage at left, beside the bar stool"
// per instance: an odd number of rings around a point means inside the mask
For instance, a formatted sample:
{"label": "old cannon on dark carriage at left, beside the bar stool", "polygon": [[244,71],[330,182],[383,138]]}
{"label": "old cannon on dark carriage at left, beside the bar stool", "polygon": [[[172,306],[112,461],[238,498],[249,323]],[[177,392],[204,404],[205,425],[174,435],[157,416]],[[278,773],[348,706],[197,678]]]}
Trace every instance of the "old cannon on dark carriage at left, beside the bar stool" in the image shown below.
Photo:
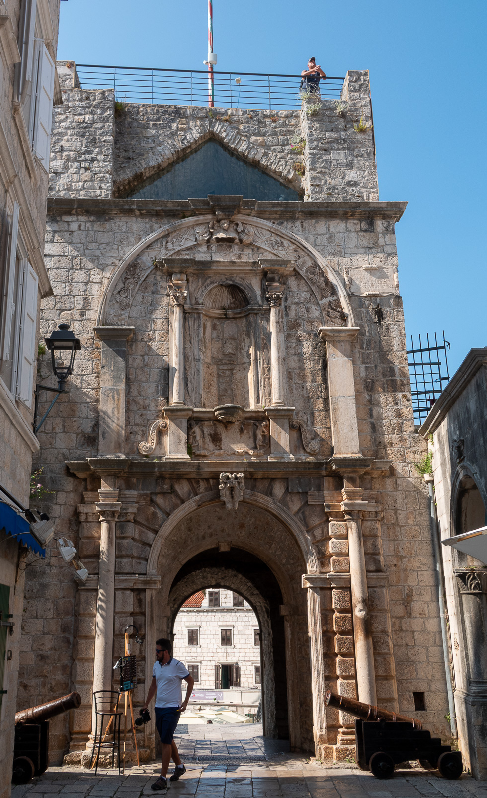
{"label": "old cannon on dark carriage at left, beside the bar stool", "polygon": [[22,709],[15,715],[14,784],[27,784],[40,776],[49,764],[49,718],[61,715],[81,704],[79,693]]}

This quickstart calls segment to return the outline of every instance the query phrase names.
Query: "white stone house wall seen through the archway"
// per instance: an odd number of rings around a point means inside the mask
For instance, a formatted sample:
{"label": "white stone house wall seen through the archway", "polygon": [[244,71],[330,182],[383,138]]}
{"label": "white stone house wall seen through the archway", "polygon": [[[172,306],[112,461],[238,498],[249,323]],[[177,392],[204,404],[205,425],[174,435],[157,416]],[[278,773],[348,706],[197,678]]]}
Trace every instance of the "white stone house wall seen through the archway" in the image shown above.
{"label": "white stone house wall seen through the archway", "polygon": [[[174,624],[174,655],[186,666],[200,666],[195,689],[215,689],[215,666],[240,666],[240,687],[255,686],[255,666],[260,666],[260,646],[254,645],[259,621],[251,607],[232,606],[232,591],[220,590],[220,608],[204,604],[196,609],[181,607]],[[198,645],[188,646],[188,629],[198,630]],[[232,646],[221,645],[221,629],[232,629]]]}

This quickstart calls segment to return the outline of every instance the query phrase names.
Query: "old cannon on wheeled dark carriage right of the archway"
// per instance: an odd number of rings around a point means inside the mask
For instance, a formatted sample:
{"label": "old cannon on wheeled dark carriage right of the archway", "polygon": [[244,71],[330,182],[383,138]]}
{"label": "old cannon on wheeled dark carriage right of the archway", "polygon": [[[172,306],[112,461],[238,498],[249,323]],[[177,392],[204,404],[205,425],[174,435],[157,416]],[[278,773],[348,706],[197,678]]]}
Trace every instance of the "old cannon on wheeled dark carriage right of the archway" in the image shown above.
{"label": "old cannon on wheeled dark carriage right of the archway", "polygon": [[357,718],[355,747],[357,764],[378,779],[390,779],[394,765],[417,759],[423,768],[438,768],[445,779],[458,779],[463,772],[460,751],[441,745],[414,717],[362,704],[354,698],[327,690],[325,705],[335,706]]}

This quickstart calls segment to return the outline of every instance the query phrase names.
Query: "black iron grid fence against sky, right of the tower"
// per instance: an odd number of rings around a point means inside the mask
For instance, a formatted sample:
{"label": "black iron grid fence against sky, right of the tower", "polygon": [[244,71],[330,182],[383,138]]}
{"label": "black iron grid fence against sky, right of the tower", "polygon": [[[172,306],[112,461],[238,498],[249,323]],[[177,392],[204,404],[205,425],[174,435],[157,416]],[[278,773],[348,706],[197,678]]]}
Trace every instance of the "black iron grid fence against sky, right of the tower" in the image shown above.
{"label": "black iron grid fence against sky, right of the tower", "polygon": [[[449,382],[446,358],[449,342],[445,340],[444,332],[442,336],[442,342],[441,339],[438,342],[435,333],[433,343],[433,340],[430,341],[430,336],[426,334],[426,346],[421,340],[421,335],[418,335],[419,346],[414,345],[413,336],[411,336],[411,349],[407,350],[414,421],[417,425],[422,425],[441,391]],[[441,353],[443,354],[441,355]]]}

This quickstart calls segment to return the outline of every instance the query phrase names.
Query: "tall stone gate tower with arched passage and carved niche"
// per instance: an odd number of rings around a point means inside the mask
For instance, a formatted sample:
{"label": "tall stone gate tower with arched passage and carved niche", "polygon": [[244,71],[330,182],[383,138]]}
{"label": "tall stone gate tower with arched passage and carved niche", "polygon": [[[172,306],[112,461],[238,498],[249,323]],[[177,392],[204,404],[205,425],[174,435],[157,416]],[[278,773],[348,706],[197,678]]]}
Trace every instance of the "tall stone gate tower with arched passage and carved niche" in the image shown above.
{"label": "tall stone gate tower with arched passage and carved niche", "polygon": [[[406,203],[378,200],[368,73],[347,74],[346,110],[314,117],[115,116],[114,99],[66,88],[55,115],[44,326],[70,322],[82,353],[40,440],[49,516],[90,576],[75,586],[54,550],[30,569],[23,704],[77,689],[51,748],[81,757],[125,626],[144,634],[137,704],[156,637],[189,595],[224,587],[259,617],[265,734],[349,756],[352,719],[324,707],[327,687],[408,713],[423,693],[419,715],[446,733],[398,294]],[[208,146],[281,194],[158,199],[184,164],[196,180]],[[142,737],[148,756],[153,727]]]}

